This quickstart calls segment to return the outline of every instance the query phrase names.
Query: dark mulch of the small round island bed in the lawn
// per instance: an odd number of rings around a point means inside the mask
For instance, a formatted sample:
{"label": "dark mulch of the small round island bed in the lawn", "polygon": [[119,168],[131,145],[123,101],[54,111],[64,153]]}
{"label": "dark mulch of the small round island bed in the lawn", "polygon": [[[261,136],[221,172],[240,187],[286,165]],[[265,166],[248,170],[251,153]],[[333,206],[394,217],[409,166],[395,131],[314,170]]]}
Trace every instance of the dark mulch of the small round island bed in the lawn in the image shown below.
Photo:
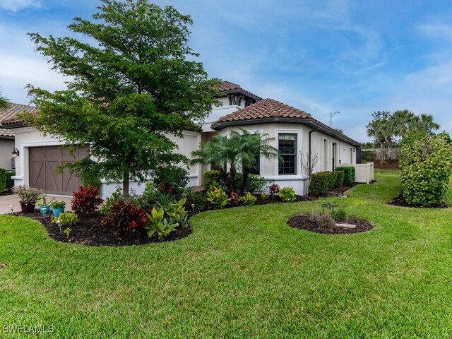
{"label": "dark mulch of the small round island bed in the lawn", "polygon": [[306,230],[322,234],[349,234],[367,232],[374,227],[371,222],[359,218],[348,218],[347,224],[356,225],[355,228],[347,227],[333,227],[332,230],[321,230],[317,222],[313,222],[309,218],[309,214],[296,215],[287,220],[287,225],[297,228],[299,230]]}

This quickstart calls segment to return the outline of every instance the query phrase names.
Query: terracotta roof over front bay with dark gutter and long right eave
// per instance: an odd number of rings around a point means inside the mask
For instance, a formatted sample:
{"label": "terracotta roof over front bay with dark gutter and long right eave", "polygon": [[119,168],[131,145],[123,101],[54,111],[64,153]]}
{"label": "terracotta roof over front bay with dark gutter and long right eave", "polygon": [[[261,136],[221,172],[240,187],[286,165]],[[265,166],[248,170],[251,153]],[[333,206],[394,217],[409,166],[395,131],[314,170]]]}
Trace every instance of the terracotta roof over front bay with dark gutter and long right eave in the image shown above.
{"label": "terracotta roof over front bay with dark gutter and long right eave", "polygon": [[249,124],[265,124],[270,122],[289,122],[307,124],[312,129],[319,130],[339,140],[352,145],[360,146],[361,143],[345,136],[345,134],[332,129],[321,121],[314,119],[311,114],[285,105],[273,99],[264,99],[235,112],[221,117],[212,123],[212,129],[221,130],[228,126],[241,126]]}

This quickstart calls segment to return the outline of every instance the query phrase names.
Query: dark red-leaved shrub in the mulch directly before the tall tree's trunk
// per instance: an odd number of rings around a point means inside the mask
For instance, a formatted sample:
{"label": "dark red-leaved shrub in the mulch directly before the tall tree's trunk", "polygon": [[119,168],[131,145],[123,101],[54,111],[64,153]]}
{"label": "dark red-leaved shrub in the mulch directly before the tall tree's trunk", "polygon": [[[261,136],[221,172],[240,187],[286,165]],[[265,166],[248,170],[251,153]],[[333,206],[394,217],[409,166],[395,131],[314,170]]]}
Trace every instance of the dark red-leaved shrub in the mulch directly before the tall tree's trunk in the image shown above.
{"label": "dark red-leaved shrub in the mulch directly before the tall tree's trunk", "polygon": [[136,230],[142,229],[146,222],[148,218],[143,208],[131,202],[126,203],[124,200],[113,203],[109,214],[100,220],[100,224],[113,230],[117,237],[135,233]]}

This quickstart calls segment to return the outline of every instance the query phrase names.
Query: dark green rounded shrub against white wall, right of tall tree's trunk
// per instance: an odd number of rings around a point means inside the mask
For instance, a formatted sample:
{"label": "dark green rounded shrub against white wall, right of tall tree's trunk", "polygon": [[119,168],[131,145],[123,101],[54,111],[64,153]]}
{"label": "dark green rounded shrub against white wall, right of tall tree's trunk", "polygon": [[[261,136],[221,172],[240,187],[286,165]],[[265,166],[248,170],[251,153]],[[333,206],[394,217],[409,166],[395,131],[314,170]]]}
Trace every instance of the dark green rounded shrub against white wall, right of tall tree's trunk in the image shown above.
{"label": "dark green rounded shrub against white wall, right of tall tree's trunk", "polygon": [[189,172],[176,165],[158,165],[154,171],[154,184],[162,192],[179,196],[189,183]]}

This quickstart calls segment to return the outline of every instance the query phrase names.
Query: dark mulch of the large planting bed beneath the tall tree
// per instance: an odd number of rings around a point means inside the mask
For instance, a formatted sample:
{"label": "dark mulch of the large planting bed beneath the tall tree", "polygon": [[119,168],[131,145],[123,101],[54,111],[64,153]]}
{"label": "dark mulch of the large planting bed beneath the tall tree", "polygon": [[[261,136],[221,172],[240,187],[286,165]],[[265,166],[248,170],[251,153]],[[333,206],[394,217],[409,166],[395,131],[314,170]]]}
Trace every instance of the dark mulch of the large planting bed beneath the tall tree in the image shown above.
{"label": "dark mulch of the large planting bed beneath the tall tree", "polygon": [[[13,213],[18,217],[27,217],[38,220],[44,225],[52,239],[59,242],[71,242],[73,244],[83,244],[85,246],[130,246],[149,244],[151,242],[173,242],[174,240],[182,239],[191,234],[191,226],[186,228],[178,227],[171,232],[167,237],[158,239],[156,237],[150,238],[145,230],[136,232],[133,236],[117,237],[112,230],[107,230],[100,225],[100,214],[95,212],[91,215],[79,215],[78,222],[72,227],[69,237],[60,232],[57,224],[50,222],[50,216],[42,218],[39,212],[35,213]],[[64,231],[64,227],[61,227]]]}

